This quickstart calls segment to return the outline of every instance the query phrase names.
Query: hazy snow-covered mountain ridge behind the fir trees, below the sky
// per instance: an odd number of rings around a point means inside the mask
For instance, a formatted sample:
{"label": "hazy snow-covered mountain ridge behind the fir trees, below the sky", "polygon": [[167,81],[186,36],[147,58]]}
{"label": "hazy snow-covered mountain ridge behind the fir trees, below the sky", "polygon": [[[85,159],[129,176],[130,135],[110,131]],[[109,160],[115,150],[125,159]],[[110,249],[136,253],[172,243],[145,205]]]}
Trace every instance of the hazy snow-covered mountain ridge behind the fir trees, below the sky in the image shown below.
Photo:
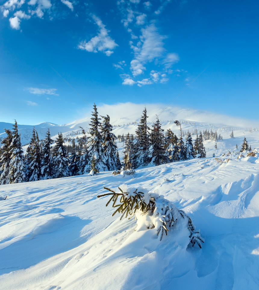
{"label": "hazy snow-covered mountain ridge behind the fir trees, below the sky", "polygon": [[[223,131],[229,131],[232,128],[239,129],[242,132],[247,131],[250,127],[254,129],[257,125],[249,120],[242,120],[229,116],[220,115],[201,110],[184,109],[175,106],[166,106],[163,104],[134,104],[134,103],[119,103],[115,105],[103,104],[98,107],[99,116],[109,115],[111,117],[111,124],[114,126],[114,134],[135,134],[137,123],[142,115],[144,107],[147,108],[149,127],[152,126],[157,116],[162,123],[164,130],[171,129],[173,132],[178,132],[179,128],[173,123],[174,120],[180,120],[183,131],[198,129],[218,130],[224,128]],[[80,126],[86,129],[89,128],[91,112],[83,119],[76,120],[64,125],[56,125],[52,123],[41,123],[35,125],[35,129],[39,134],[40,139],[44,139],[46,131],[50,129],[51,136],[55,138],[58,133],[63,133],[64,137],[68,135],[73,136],[73,132],[80,130]],[[19,120],[18,120],[19,121]],[[0,138],[5,137],[4,128],[12,129],[11,123],[0,122]],[[21,133],[22,144],[30,142],[33,125],[18,125]]]}

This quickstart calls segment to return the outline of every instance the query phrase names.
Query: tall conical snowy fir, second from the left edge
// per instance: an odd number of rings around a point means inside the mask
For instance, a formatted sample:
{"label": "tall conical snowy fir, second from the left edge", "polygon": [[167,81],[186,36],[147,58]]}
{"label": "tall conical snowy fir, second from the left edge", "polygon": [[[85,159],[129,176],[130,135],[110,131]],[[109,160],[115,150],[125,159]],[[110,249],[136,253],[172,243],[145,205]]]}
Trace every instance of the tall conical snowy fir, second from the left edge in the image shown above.
{"label": "tall conical snowy fir, second from the left edge", "polygon": [[17,122],[13,125],[13,139],[10,144],[11,159],[9,163],[10,171],[8,178],[10,183],[20,183],[25,181],[24,163],[23,163],[23,149],[20,141],[20,135],[18,134]]}

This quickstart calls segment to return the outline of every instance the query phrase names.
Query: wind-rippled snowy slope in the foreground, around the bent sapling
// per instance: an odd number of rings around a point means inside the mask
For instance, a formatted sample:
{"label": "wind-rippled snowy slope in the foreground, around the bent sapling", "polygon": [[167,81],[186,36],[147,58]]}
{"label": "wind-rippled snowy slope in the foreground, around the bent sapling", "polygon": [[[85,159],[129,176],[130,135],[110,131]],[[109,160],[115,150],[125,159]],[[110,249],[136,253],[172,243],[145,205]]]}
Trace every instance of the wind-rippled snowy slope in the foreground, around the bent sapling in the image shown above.
{"label": "wind-rippled snowy slope in the foreground, around the bent sapling", "polygon": [[[101,172],[2,185],[8,198],[0,200],[0,288],[258,289],[258,171],[257,157],[221,165],[209,157],[133,176]],[[186,227],[170,228],[160,242],[155,229],[112,217],[114,208],[97,195],[122,183],[183,209],[205,238],[202,249],[187,247]]]}

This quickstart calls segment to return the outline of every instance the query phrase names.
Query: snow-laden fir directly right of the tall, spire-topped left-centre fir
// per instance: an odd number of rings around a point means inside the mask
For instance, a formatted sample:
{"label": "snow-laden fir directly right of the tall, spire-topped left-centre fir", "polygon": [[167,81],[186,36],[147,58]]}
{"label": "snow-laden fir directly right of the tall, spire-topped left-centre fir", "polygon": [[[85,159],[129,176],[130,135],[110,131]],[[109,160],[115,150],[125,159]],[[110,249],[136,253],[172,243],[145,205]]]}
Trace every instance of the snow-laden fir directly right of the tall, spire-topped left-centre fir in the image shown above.
{"label": "snow-laden fir directly right of the tall, spire-topped left-centre fir", "polygon": [[101,137],[103,139],[103,151],[106,159],[106,166],[109,171],[120,169],[120,159],[118,158],[118,147],[116,145],[116,136],[111,132],[112,125],[110,124],[110,117],[102,116],[104,119],[101,124]]}

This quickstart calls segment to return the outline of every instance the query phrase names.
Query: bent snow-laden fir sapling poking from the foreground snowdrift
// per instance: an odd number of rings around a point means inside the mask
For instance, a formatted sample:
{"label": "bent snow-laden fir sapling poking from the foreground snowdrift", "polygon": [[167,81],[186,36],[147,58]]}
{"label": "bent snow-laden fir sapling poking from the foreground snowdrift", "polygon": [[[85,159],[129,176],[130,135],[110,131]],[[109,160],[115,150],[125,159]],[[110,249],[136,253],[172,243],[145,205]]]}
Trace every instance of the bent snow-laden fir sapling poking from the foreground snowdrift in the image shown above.
{"label": "bent snow-laden fir sapling poking from the foreground snowdrift", "polygon": [[189,230],[190,243],[192,246],[197,243],[201,248],[201,243],[204,242],[204,239],[201,238],[199,231],[195,231],[191,218],[183,210],[179,210],[172,202],[165,199],[164,196],[160,196],[158,193],[148,192],[148,190],[143,188],[140,190],[127,189],[126,187],[123,189],[122,187],[118,188],[120,192],[116,193],[114,190],[104,187],[110,193],[97,196],[111,195],[106,206],[112,202],[112,207],[116,208],[112,214],[113,216],[117,212],[121,213],[120,219],[123,216],[125,218],[129,217],[129,219],[135,216],[135,219],[138,219],[139,217],[143,218],[144,215],[146,218],[146,228],[156,229],[160,241],[164,233],[166,235],[168,234],[169,227],[173,227],[177,220],[183,219]]}

